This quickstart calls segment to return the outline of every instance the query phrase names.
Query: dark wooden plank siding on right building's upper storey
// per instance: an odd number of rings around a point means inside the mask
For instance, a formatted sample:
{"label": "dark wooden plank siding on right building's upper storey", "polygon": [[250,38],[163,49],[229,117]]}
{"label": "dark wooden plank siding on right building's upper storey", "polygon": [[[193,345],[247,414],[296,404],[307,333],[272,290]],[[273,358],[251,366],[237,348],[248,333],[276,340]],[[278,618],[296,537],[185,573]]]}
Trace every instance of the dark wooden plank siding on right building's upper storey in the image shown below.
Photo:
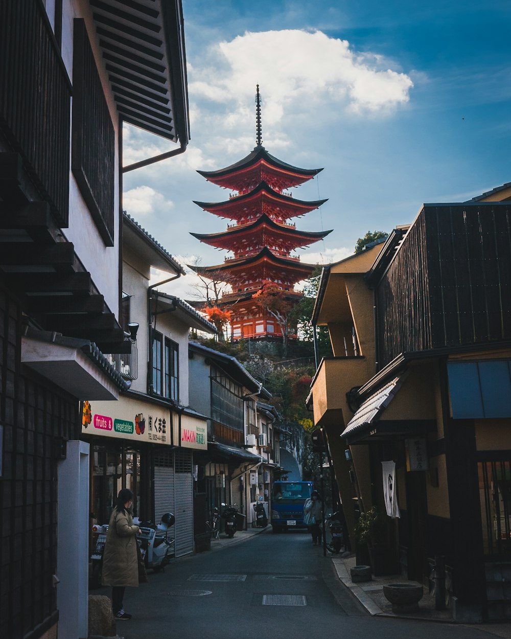
{"label": "dark wooden plank siding on right building's upper storey", "polygon": [[424,206],[376,288],[379,361],[511,339],[511,206]]}

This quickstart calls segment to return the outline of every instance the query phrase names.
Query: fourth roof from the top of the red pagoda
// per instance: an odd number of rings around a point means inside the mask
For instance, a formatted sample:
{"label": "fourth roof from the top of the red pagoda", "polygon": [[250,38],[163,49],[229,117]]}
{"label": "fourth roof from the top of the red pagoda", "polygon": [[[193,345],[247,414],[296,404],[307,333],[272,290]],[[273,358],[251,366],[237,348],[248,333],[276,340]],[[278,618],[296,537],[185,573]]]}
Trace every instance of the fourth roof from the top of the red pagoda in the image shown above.
{"label": "fourth roof from the top of the red pagoda", "polygon": [[[289,281],[298,282],[310,277],[316,268],[314,264],[305,264],[298,258],[283,258],[275,255],[268,247],[264,247],[259,253],[248,258],[227,259],[223,264],[216,266],[192,266],[197,273],[229,273],[229,283],[233,283],[238,277],[245,277],[247,273],[254,273],[257,280],[268,279],[278,281],[282,277],[289,277]],[[233,284],[234,286],[234,284]]]}

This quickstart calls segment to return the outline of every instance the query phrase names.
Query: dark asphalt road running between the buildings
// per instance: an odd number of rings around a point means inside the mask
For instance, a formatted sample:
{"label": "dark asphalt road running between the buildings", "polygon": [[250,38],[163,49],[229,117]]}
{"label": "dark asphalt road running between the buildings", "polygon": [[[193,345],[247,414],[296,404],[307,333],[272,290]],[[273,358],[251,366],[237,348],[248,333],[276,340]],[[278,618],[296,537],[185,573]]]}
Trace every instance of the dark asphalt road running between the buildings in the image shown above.
{"label": "dark asphalt road running between the buildings", "polygon": [[[181,558],[126,589],[125,639],[487,639],[455,624],[370,617],[307,533],[268,532]],[[109,594],[100,589],[91,594]],[[293,604],[293,605],[291,605]]]}

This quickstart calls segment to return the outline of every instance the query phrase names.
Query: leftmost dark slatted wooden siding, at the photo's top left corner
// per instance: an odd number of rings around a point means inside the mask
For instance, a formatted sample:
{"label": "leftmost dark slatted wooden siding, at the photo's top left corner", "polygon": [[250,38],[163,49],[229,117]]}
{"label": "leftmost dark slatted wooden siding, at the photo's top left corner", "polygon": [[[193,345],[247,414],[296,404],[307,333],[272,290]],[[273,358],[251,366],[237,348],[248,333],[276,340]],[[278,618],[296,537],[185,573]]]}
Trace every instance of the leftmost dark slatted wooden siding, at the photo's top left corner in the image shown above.
{"label": "leftmost dark slatted wooden siding, at the photo's top left corner", "polygon": [[42,2],[0,2],[0,130],[68,226],[71,85]]}

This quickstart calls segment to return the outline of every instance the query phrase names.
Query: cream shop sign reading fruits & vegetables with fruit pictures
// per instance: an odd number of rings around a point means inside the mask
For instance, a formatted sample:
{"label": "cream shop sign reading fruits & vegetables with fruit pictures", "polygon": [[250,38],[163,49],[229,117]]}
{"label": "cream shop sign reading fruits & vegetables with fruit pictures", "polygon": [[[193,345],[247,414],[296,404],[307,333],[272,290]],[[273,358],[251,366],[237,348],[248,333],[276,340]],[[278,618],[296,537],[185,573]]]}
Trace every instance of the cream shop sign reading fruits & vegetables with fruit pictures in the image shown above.
{"label": "cream shop sign reading fruits & vegetables with fruit pictures", "polygon": [[84,401],[82,433],[171,444],[171,413],[162,406],[128,397],[118,401]]}

